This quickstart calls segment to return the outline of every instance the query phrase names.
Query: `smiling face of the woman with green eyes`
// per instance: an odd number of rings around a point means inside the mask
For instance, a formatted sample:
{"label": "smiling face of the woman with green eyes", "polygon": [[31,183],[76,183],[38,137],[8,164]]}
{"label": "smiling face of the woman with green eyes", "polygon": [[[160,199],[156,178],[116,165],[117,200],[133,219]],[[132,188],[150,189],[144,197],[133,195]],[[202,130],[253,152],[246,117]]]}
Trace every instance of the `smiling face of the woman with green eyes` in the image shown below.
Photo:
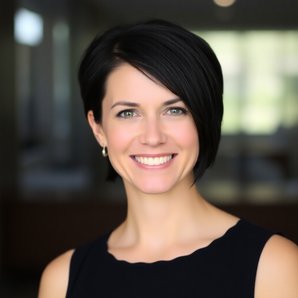
{"label": "smiling face of the woman with green eyes", "polygon": [[108,77],[102,108],[102,124],[93,122],[94,134],[108,147],[125,184],[156,194],[192,182],[198,132],[175,94],[124,64]]}

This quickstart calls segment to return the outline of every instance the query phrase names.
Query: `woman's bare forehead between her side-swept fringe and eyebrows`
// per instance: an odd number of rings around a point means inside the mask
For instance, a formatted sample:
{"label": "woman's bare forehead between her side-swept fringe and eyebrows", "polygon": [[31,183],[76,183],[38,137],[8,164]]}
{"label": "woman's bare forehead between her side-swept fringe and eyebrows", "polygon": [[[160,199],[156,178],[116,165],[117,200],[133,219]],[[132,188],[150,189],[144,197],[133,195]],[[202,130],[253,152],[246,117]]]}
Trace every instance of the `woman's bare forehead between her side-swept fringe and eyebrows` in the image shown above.
{"label": "woman's bare forehead between her side-swept fringe and eyebrows", "polygon": [[113,105],[116,101],[164,101],[177,98],[175,94],[150,80],[134,67],[124,64],[108,77],[104,100]]}

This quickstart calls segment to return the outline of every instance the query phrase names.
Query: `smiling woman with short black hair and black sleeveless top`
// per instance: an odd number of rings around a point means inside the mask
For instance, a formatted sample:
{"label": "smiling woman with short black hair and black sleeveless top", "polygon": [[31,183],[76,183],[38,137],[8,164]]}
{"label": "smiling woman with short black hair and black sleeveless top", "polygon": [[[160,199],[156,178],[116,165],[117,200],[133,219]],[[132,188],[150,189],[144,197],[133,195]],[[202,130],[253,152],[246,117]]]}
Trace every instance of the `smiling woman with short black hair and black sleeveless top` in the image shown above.
{"label": "smiling woman with short black hair and black sleeveless top", "polygon": [[195,187],[223,114],[221,67],[204,40],[160,20],[112,28],[89,45],[79,82],[127,218],[52,261],[39,298],[298,297],[297,246]]}

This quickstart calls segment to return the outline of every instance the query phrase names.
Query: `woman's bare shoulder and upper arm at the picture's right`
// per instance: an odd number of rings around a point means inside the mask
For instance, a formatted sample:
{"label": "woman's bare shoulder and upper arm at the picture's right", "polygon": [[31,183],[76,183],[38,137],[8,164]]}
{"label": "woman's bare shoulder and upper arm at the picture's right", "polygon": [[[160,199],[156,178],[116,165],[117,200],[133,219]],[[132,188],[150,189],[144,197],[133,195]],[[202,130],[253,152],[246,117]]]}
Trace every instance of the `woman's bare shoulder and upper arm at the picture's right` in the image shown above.
{"label": "woman's bare shoulder and upper arm at the picture's right", "polygon": [[256,298],[298,297],[298,246],[273,235],[264,246],[257,268]]}

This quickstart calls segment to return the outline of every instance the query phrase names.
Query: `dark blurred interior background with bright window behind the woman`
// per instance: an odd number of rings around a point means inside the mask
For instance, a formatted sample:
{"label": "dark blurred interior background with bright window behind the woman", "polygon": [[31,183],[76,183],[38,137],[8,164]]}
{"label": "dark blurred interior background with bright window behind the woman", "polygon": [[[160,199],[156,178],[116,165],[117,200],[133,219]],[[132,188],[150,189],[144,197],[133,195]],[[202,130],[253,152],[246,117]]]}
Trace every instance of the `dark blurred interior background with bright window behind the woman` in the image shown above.
{"label": "dark blurred interior background with bright window behind the woman", "polygon": [[36,297],[50,260],[125,218],[76,72],[97,32],[149,17],[200,35],[222,65],[221,145],[199,191],[298,243],[297,13],[296,0],[0,0],[0,297]]}

